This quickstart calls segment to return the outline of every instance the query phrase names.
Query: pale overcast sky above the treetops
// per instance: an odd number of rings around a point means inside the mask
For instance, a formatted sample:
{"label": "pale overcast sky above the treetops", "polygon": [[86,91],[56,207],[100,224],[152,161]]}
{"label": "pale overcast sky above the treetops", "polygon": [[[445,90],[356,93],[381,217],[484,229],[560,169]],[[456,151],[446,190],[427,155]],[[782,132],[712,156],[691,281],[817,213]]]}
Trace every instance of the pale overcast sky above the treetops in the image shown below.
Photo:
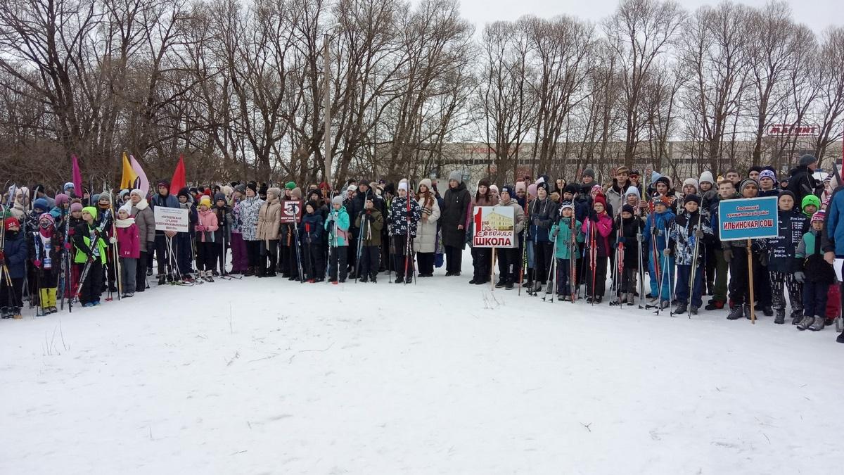
{"label": "pale overcast sky above the treetops", "polygon": [[[679,0],[686,9],[693,11],[706,3],[704,0]],[[760,6],[766,0],[744,0],[746,5]],[[788,2],[792,6],[794,18],[809,25],[820,34],[829,25],[844,25],[844,8],[841,0],[802,0]],[[553,17],[568,14],[581,19],[598,21],[611,14],[618,0],[460,0],[463,17],[472,21],[478,31],[484,24],[499,19],[514,20],[525,14],[538,17]]]}

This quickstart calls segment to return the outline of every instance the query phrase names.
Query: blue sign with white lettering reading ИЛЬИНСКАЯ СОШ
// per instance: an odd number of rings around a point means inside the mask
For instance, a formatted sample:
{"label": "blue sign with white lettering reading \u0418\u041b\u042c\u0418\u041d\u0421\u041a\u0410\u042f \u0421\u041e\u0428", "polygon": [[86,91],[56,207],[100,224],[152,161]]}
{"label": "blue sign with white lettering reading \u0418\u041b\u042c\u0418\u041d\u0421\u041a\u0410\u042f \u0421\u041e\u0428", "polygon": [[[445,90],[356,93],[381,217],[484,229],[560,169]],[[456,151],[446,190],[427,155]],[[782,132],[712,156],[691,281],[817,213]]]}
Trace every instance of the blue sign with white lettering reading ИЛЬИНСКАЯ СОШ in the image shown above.
{"label": "blue sign with white lettering reading \u0418\u041b\u042c\u0418\u041d\u0421\u041a\u0410\u042f \u0421\u041e\u0428", "polygon": [[776,201],[776,196],[722,200],[718,203],[721,240],[776,238]]}

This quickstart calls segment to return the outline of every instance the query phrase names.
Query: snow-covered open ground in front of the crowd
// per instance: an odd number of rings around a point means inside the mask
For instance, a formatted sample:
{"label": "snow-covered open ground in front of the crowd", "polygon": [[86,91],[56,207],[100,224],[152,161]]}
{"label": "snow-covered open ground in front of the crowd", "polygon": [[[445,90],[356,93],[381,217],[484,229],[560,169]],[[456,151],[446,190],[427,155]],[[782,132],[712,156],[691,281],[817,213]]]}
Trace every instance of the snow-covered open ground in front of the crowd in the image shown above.
{"label": "snow-covered open ground in front of the crowd", "polygon": [[3,320],[0,473],[840,473],[833,330],[544,303],[470,264]]}

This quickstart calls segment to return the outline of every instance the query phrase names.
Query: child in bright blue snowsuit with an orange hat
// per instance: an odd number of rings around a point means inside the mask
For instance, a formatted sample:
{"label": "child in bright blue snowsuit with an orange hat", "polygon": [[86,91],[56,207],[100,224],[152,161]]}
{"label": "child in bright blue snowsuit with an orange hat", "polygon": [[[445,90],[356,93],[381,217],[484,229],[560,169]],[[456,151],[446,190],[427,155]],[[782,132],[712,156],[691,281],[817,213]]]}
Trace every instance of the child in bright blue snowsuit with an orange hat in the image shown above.
{"label": "child in bright blue snowsuit with an orange hat", "polygon": [[652,200],[651,216],[645,221],[642,239],[648,245],[648,272],[651,277],[651,301],[648,307],[668,308],[671,286],[674,282],[674,257],[668,248],[668,231],[674,221],[674,213],[668,209],[670,199],[656,196]]}

